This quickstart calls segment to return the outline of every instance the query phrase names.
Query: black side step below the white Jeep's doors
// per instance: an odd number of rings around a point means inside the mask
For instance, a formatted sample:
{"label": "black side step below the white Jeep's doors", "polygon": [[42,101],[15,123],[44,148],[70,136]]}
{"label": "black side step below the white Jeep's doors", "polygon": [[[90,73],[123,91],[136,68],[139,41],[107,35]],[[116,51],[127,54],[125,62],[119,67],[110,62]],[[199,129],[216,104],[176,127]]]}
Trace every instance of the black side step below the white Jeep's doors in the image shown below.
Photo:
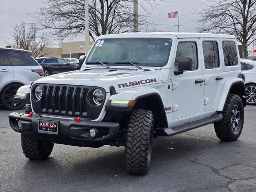
{"label": "black side step below the white Jeep's doors", "polygon": [[172,135],[186,132],[186,131],[189,131],[198,127],[202,127],[204,125],[214,123],[220,120],[222,120],[222,114],[214,114],[212,116],[202,118],[200,120],[188,122],[185,124],[175,125],[169,128],[159,128],[156,130],[156,134],[158,136],[172,136]]}

